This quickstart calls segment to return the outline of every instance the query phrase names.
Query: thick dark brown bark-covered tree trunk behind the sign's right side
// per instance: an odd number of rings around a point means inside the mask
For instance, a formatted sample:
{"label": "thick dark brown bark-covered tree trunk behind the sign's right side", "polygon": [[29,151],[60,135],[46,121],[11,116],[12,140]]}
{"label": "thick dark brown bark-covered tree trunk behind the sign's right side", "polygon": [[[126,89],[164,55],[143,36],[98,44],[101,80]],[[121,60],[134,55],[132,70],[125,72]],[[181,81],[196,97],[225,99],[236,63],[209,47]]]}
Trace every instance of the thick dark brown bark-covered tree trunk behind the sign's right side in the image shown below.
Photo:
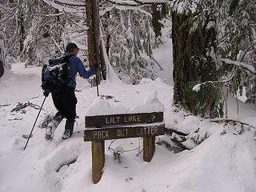
{"label": "thick dark brown bark-covered tree trunk behind the sign's right side", "polygon": [[[198,103],[197,97],[202,94],[192,94],[188,88],[197,82],[217,80],[214,61],[217,49],[216,21],[210,6],[205,9],[203,4],[182,2],[182,9],[178,3],[174,4],[172,11],[174,103],[184,106],[194,114],[214,117],[218,107],[215,95],[212,95],[213,98],[209,97],[207,102]],[[202,106],[198,107],[200,104]]]}

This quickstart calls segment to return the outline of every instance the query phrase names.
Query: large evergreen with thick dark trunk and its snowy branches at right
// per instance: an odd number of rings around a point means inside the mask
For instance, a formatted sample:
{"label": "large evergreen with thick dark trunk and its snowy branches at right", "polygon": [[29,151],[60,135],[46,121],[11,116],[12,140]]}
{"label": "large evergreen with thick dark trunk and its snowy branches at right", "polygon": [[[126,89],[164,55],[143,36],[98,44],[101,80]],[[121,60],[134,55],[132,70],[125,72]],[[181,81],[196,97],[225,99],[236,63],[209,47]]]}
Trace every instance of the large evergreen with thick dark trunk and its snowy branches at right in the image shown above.
{"label": "large evergreen with thick dark trunk and its snowy branches at right", "polygon": [[[238,81],[242,82],[244,78],[241,70],[234,70],[233,66],[228,67],[221,61],[225,61],[222,58],[239,61],[241,58],[245,59],[246,54],[250,55],[249,50],[254,50],[254,3],[220,0],[184,0],[171,3],[175,103],[181,104],[195,114],[210,114],[211,117],[222,115],[218,86],[226,82],[223,78],[232,75],[223,71],[231,71],[234,77],[237,77],[230,78],[234,81],[234,90],[238,90]],[[245,51],[246,54],[242,54]],[[206,101],[204,98],[194,102],[198,99],[196,97],[202,97],[203,93],[187,92],[187,87],[192,88],[191,84],[195,85],[198,82],[206,90],[209,86],[212,86],[211,90],[215,90],[214,94],[210,94],[213,97],[208,97],[207,103],[203,102]],[[198,111],[198,105],[203,106],[204,110]]]}

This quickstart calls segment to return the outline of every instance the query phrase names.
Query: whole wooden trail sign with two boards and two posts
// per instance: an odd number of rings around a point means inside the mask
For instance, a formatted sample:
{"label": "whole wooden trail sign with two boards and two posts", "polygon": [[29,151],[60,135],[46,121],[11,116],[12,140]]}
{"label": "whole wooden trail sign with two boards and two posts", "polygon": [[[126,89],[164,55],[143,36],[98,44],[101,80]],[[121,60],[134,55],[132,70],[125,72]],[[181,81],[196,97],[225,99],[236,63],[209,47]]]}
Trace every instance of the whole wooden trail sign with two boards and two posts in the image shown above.
{"label": "whole wooden trail sign with two boards and two posts", "polygon": [[143,160],[150,162],[155,150],[155,136],[165,134],[163,113],[113,114],[87,116],[84,141],[92,142],[93,182],[102,178],[105,162],[105,140],[143,138]]}

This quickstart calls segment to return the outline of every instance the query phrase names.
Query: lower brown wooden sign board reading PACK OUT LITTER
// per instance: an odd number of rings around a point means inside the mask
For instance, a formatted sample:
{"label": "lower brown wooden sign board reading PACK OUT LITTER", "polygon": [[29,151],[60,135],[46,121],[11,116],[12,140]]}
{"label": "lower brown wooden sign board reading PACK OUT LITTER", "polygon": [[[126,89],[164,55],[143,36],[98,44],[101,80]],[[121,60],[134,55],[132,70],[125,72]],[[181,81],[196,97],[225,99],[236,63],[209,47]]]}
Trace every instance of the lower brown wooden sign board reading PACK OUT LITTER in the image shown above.
{"label": "lower brown wooden sign board reading PACK OUT LITTER", "polygon": [[117,128],[90,129],[84,132],[84,141],[104,141],[118,138],[150,137],[165,134],[165,124],[158,126],[125,126]]}

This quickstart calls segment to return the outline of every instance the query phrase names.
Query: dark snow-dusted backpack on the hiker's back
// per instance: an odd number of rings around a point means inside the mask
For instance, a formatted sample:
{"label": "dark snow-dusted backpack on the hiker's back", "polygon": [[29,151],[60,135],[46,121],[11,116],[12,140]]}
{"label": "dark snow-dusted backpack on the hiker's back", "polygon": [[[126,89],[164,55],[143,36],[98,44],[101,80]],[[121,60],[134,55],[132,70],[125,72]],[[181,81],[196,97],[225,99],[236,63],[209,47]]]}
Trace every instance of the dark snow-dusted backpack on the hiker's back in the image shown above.
{"label": "dark snow-dusted backpack on the hiker's back", "polygon": [[42,67],[42,90],[57,93],[71,78],[67,79],[70,69],[69,58],[73,55],[49,59],[49,64]]}

